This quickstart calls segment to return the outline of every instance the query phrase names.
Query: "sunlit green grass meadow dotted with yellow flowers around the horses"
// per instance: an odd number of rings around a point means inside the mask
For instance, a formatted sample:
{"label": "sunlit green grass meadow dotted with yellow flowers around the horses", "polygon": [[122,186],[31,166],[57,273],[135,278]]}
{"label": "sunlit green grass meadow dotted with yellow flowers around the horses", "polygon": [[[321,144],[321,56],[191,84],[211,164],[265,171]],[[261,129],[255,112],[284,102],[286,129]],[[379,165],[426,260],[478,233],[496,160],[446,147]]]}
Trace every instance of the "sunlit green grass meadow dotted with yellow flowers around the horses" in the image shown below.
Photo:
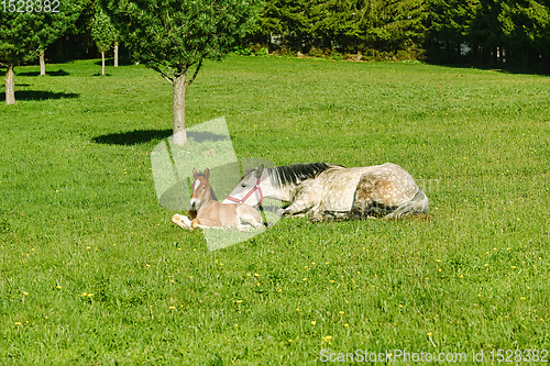
{"label": "sunlit green grass meadow dotted with yellow flowers around the horses", "polygon": [[207,63],[189,126],[224,115],[239,157],[276,165],[398,164],[432,215],[284,218],[209,252],[156,199],[150,153],[170,135],[169,85],[143,66],[95,76],[97,60],[37,70],[15,69],[16,106],[0,87],[1,365],[310,365],[321,350],[468,363],[483,351],[488,363],[493,350],[550,351],[548,77]]}

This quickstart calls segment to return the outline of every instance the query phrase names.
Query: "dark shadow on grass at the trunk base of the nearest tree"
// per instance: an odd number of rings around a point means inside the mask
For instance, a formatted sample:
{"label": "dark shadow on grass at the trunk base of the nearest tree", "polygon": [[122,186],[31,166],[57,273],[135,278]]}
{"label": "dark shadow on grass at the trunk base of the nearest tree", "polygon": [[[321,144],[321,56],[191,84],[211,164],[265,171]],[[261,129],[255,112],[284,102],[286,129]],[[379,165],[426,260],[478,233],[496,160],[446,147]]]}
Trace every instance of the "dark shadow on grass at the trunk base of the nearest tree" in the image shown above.
{"label": "dark shadow on grass at the trunk base of the nearest tree", "polygon": [[[134,130],[121,133],[110,133],[91,138],[97,144],[106,145],[136,145],[145,144],[152,141],[160,141],[172,136],[172,130]],[[187,137],[196,142],[222,141],[229,138],[227,135],[218,135],[211,132],[187,131]]]}

